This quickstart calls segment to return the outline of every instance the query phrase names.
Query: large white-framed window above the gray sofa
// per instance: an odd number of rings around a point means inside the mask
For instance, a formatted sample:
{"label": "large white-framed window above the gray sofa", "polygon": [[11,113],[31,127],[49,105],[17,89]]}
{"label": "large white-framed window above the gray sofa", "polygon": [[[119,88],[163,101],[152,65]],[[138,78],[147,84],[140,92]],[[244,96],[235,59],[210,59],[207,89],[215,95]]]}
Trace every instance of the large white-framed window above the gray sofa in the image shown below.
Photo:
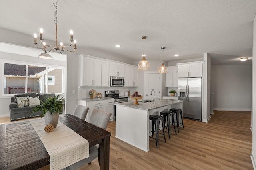
{"label": "large white-framed window above the gray sofa", "polygon": [[3,61],[4,95],[64,93],[64,67],[48,67]]}

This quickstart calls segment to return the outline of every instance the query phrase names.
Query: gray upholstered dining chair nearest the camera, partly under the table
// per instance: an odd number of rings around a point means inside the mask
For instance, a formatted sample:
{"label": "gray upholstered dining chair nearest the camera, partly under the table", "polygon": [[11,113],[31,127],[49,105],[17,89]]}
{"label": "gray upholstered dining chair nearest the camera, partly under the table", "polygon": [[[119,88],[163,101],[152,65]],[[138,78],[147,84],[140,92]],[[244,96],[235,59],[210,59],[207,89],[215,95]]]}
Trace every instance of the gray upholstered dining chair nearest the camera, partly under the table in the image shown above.
{"label": "gray upholstered dining chair nearest the camera, partly under the table", "polygon": [[[97,127],[100,127],[104,130],[106,130],[108,126],[108,121],[110,119],[111,113],[110,112],[105,112],[97,109],[92,110],[92,115],[90,116],[90,120],[88,121],[92,125],[95,125]],[[98,151],[99,145],[95,145],[89,148],[89,154],[90,156],[88,158],[85,158],[83,160],[80,160],[68,167],[66,167],[66,170],[76,170],[86,164],[91,164],[91,162],[96,159],[99,155]]]}

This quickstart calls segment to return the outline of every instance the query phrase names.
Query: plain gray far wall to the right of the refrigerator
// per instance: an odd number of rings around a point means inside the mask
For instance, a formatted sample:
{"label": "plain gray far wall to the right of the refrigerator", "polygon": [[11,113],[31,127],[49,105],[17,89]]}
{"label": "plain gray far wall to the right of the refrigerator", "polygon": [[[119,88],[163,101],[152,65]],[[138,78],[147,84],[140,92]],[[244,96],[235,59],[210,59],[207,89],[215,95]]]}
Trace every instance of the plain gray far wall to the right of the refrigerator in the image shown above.
{"label": "plain gray far wall to the right of the refrigerator", "polygon": [[251,110],[252,66],[212,65],[211,93],[215,110]]}

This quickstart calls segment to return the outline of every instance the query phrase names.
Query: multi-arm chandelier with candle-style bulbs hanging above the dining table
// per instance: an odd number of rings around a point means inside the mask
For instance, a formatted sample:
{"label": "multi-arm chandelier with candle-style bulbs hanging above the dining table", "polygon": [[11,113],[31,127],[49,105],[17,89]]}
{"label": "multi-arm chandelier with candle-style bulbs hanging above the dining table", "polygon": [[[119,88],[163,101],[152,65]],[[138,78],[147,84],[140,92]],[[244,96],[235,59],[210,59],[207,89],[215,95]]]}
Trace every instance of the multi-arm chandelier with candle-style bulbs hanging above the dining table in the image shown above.
{"label": "multi-arm chandelier with candle-style bulbs hanging above the dining table", "polygon": [[[39,48],[39,49],[43,49],[43,53],[41,53],[38,57],[40,58],[44,58],[44,59],[52,59],[52,56],[50,54],[48,54],[50,51],[52,51],[53,49],[55,49],[56,51],[59,51],[61,54],[63,53],[64,50],[66,51],[69,51],[69,52],[75,52],[76,51],[76,40],[73,40],[73,30],[70,30],[70,42],[71,44],[68,45],[68,46],[65,46],[63,45],[62,42],[60,42],[60,45],[58,45],[58,41],[57,41],[57,26],[58,26],[58,20],[57,20],[57,2],[58,0],[56,0],[56,3],[54,4],[55,6],[55,20],[54,20],[54,23],[55,23],[55,45],[51,44],[51,45],[46,45],[46,43],[43,41],[43,32],[44,30],[42,28],[40,28],[40,34],[39,34],[39,40],[40,40],[40,43],[42,45],[42,47],[37,47],[37,42],[36,42],[36,39],[37,39],[37,34],[35,33],[34,34],[34,44],[36,46],[36,48]],[[74,42],[74,46],[73,46],[73,49],[71,51],[71,49],[67,49],[68,47],[71,47],[73,45],[73,42]],[[46,48],[49,48],[49,51],[46,51]],[[71,47],[72,48],[72,47]]]}

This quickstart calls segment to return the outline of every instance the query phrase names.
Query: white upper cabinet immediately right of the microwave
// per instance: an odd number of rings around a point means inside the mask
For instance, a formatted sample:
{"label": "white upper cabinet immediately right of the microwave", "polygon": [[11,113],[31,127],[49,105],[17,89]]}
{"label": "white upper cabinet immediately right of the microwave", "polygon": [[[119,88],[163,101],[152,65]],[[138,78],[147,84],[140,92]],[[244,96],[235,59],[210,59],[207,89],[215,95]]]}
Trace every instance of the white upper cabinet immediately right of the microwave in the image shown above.
{"label": "white upper cabinet immediately right of the microwave", "polygon": [[124,86],[137,87],[138,86],[138,67],[135,65],[124,66]]}

